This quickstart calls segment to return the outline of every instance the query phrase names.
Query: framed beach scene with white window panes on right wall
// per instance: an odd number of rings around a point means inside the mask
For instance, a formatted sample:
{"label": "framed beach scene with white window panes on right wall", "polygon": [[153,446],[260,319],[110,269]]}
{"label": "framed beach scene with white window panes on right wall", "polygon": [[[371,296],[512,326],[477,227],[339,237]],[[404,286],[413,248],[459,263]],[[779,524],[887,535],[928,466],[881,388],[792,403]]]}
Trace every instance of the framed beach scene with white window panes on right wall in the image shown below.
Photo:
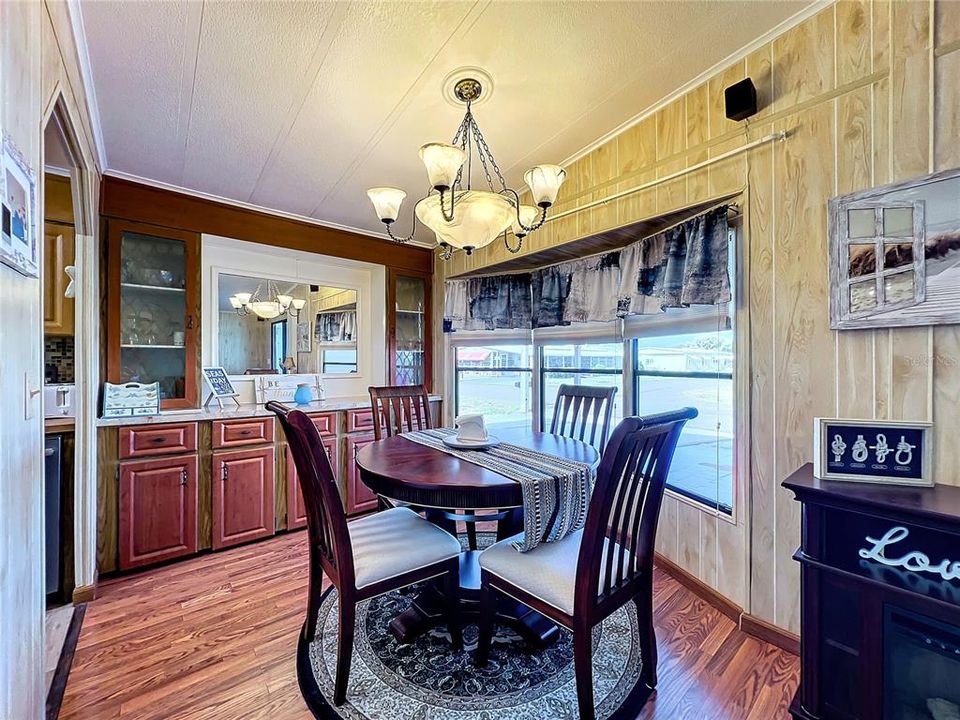
{"label": "framed beach scene with white window panes on right wall", "polygon": [[830,201],[834,330],[960,323],[960,168]]}

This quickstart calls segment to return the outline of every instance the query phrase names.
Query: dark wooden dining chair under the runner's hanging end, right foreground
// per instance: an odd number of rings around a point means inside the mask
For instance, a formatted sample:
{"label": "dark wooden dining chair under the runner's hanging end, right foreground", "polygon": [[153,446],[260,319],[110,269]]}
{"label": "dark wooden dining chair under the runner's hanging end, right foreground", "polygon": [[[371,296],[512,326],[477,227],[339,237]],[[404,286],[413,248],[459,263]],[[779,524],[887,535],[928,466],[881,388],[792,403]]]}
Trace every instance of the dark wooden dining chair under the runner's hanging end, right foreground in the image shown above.
{"label": "dark wooden dining chair under the runner's hanging end, right foreground", "polygon": [[[519,553],[501,540],[480,555],[481,609],[476,663],[484,666],[493,639],[495,593],[502,593],[573,631],[574,673],[581,720],[594,720],[592,630],[633,601],[637,609],[644,684],[640,704],[657,684],[653,628],[653,551],[667,472],[694,408],[625,419],[600,459],[586,526],[564,539]],[[637,706],[639,710],[640,705]]]}

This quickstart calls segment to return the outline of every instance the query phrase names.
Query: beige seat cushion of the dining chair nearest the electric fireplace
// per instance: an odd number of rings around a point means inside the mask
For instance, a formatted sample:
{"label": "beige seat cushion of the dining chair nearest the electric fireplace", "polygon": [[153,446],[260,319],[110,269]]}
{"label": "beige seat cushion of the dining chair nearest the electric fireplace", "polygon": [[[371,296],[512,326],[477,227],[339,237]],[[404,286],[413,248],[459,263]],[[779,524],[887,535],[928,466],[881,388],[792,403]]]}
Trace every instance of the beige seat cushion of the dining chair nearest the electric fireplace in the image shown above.
{"label": "beige seat cushion of the dining chair nearest the electric fireplace", "polygon": [[[553,543],[541,543],[529,552],[518,552],[512,546],[521,535],[514,535],[491,545],[480,554],[480,567],[511,585],[533,595],[567,615],[573,615],[573,595],[577,582],[577,559],[580,557],[580,541],[583,530],[567,535],[563,540]],[[604,552],[609,547],[604,542]],[[619,553],[619,545],[614,544]],[[606,556],[605,556],[606,557]],[[618,556],[614,556],[614,575],[617,572]],[[624,559],[624,565],[630,563],[630,553]],[[606,562],[600,566],[600,588],[607,577]]]}

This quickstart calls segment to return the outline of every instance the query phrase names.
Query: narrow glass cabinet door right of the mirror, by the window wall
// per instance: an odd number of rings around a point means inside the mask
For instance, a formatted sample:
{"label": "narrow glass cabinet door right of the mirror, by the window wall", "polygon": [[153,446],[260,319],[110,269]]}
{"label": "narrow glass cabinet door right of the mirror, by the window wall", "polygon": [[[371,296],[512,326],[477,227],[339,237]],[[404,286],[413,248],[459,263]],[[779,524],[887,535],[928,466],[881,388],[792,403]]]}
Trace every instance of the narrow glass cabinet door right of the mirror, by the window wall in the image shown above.
{"label": "narrow glass cabinet door right of the mirror, by the window wall", "polygon": [[427,281],[414,275],[393,276],[394,337],[390,372],[395,385],[427,384]]}

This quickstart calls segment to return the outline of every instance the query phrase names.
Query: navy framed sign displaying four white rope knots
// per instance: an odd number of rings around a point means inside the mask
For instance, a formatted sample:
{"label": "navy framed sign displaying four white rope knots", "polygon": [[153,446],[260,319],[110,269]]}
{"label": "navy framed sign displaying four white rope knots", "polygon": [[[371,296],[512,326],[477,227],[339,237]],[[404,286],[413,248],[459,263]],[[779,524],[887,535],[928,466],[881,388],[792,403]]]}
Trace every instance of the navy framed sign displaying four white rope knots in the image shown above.
{"label": "navy framed sign displaying four white rope knots", "polygon": [[931,423],[816,418],[814,476],[932,486]]}

